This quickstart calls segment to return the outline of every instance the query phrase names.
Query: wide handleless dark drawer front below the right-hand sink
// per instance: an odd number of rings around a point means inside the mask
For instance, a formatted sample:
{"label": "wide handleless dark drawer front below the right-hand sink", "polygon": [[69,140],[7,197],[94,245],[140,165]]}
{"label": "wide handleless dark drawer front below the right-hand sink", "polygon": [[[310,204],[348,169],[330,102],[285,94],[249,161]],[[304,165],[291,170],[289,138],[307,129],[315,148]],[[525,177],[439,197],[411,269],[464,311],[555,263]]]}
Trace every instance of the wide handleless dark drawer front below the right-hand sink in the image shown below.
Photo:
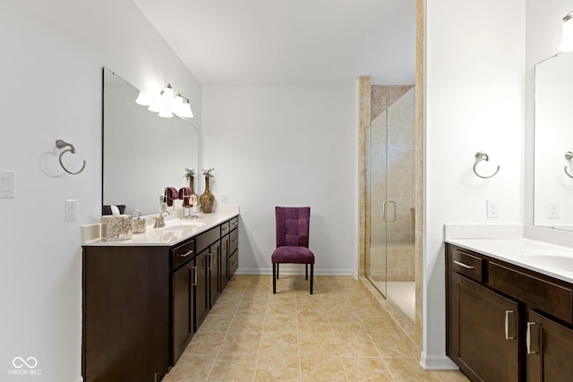
{"label": "wide handleless dark drawer front below the right-hand sink", "polygon": [[573,291],[570,288],[504,267],[494,261],[490,261],[488,270],[492,288],[573,324]]}

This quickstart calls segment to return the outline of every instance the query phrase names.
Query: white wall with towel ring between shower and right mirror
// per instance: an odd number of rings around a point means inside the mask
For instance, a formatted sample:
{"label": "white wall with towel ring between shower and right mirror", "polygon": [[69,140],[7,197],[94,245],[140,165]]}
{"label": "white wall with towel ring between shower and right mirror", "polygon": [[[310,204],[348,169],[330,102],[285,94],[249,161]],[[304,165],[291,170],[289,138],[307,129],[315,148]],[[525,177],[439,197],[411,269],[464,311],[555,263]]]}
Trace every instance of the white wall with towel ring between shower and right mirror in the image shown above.
{"label": "white wall with towel ring between shower and right mirror", "polygon": [[[445,354],[443,225],[523,223],[525,21],[520,0],[426,0],[423,366]],[[499,174],[472,173],[483,150]],[[484,173],[492,168],[483,167]],[[500,217],[485,215],[496,199]]]}

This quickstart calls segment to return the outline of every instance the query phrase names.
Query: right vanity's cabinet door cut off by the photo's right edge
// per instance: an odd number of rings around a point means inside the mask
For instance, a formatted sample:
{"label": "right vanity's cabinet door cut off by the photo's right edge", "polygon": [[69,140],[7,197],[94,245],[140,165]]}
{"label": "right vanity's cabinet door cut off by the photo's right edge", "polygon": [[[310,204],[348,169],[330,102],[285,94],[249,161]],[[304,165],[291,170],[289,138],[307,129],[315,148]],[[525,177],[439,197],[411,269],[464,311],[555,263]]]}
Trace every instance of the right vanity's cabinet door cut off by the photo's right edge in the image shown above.
{"label": "right vanity's cabinet door cut off by the photo's right edge", "polygon": [[529,310],[526,327],[527,382],[573,378],[573,331]]}

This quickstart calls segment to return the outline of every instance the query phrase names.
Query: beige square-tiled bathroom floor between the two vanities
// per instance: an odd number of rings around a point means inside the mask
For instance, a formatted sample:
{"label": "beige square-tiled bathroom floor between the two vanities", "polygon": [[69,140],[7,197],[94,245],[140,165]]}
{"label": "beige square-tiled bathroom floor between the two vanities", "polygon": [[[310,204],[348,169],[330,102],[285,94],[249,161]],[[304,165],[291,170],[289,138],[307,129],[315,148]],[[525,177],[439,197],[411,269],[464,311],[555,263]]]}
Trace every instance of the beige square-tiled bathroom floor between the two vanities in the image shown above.
{"label": "beige square-tiled bathroom floor between the two vanities", "polygon": [[467,381],[424,371],[351,276],[236,275],[195,333],[175,381]]}

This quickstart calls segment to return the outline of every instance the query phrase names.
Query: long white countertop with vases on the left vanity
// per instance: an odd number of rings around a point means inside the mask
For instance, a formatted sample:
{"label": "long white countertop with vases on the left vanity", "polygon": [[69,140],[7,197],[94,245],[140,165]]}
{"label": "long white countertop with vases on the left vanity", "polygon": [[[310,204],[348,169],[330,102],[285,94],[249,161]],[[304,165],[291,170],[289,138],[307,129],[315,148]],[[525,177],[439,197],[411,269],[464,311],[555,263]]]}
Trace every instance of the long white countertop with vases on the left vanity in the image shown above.
{"label": "long white countertop with vases on the left vanity", "polygon": [[[180,211],[179,211],[180,212]],[[174,214],[175,215],[175,214]],[[239,215],[239,208],[233,206],[218,207],[210,214],[198,214],[198,219],[182,219],[179,216],[166,216],[165,227],[153,228],[147,225],[145,233],[133,233],[132,239],[107,242],[101,239],[99,225],[82,227],[83,246],[172,246],[178,242],[209,231],[210,228]],[[151,223],[153,219],[148,219]],[[198,224],[198,225],[193,225]]]}

